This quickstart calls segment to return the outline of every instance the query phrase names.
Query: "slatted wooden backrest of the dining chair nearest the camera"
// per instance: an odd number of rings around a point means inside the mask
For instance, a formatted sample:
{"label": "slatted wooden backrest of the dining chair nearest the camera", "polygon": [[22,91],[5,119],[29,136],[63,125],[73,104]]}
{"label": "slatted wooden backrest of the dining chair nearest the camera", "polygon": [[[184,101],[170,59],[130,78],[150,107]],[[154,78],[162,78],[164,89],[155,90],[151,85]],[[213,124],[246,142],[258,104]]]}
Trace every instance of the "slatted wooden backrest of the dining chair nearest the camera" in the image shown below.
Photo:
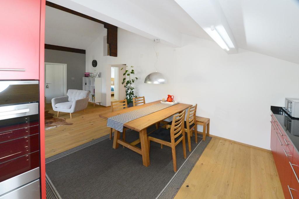
{"label": "slatted wooden backrest of the dining chair nearest the camera", "polygon": [[184,119],[185,119],[185,110],[173,116],[171,128],[170,128],[171,142],[175,142],[174,139],[183,133]]}

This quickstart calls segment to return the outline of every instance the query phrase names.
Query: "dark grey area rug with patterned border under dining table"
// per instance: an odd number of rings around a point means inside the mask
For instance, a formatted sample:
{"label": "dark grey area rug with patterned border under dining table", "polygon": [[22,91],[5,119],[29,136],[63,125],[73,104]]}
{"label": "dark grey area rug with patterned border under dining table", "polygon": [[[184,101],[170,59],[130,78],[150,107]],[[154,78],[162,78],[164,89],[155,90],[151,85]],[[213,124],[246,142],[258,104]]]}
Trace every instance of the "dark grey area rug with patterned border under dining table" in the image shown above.
{"label": "dark grey area rug with patterned border under dining table", "polygon": [[[199,137],[196,144],[192,137],[191,152],[186,143],[187,159],[181,143],[177,145],[179,170],[174,173],[170,147],[151,142],[150,165],[145,167],[141,155],[121,145],[113,149],[108,137],[46,159],[48,199],[173,198],[211,140]],[[127,131],[126,141],[135,139],[138,133]]]}

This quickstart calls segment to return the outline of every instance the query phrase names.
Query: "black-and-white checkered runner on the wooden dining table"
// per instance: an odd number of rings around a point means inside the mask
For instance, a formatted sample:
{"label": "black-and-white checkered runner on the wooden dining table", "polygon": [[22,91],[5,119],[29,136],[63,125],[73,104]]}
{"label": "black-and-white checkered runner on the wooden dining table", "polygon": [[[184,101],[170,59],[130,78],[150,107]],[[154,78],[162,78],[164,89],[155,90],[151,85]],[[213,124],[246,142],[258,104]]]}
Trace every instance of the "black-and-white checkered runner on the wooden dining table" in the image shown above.
{"label": "black-and-white checkered runner on the wooden dining table", "polygon": [[127,113],[122,113],[117,116],[109,117],[107,120],[107,127],[114,128],[120,132],[123,132],[123,124],[134,119],[141,118],[143,116],[147,116],[151,113],[155,113],[159,110],[171,107],[175,104],[153,104],[138,110],[133,110]]}

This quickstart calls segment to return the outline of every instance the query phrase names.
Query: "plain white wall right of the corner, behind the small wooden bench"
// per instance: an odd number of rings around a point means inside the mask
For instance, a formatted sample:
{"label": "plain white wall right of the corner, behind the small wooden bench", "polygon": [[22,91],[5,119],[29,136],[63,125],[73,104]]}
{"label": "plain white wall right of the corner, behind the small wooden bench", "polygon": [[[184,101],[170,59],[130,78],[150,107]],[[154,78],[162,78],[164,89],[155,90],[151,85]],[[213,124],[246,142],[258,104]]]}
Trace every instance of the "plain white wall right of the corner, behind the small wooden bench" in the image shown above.
{"label": "plain white wall right of the corner, behind the small wooden bench", "polygon": [[[198,104],[210,133],[270,149],[270,106],[299,97],[299,65],[239,49],[228,55],[216,43],[185,37],[176,49],[181,101]],[[289,72],[288,72],[289,71]]]}

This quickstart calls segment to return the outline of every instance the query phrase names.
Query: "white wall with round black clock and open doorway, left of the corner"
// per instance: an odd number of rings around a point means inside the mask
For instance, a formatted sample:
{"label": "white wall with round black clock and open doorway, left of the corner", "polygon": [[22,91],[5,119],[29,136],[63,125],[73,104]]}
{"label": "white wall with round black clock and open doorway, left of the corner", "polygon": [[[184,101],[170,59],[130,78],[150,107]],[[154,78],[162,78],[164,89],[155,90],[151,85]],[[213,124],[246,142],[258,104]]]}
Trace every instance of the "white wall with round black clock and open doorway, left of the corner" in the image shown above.
{"label": "white wall with round black clock and open doorway, left of the corner", "polygon": [[[86,72],[94,72],[94,69],[96,69],[97,72],[101,72],[101,77],[103,78],[103,102],[101,104],[104,106],[110,106],[111,65],[118,64],[134,66],[135,76],[140,78],[135,84],[136,95],[145,95],[146,102],[165,98],[168,94],[167,92],[170,92],[170,89],[168,89],[171,88],[170,84],[149,85],[143,83],[144,78],[150,72],[155,71],[154,63],[156,61],[156,55],[153,48],[154,42],[142,36],[118,28],[118,57],[103,56],[103,37],[106,34],[106,31],[103,31],[86,49]],[[168,73],[169,70],[166,66],[172,67],[172,70],[174,70],[174,48],[160,44],[158,46],[158,50],[158,71]],[[160,59],[160,57],[163,57],[163,59]],[[96,68],[93,68],[91,65],[91,61],[93,59],[97,60],[98,66]],[[122,79],[122,74],[123,71],[120,71],[120,79]],[[120,84],[120,87],[121,86],[123,85]],[[141,89],[144,91],[154,89],[154,93],[148,92],[145,94]],[[108,91],[108,95],[106,91]]]}

